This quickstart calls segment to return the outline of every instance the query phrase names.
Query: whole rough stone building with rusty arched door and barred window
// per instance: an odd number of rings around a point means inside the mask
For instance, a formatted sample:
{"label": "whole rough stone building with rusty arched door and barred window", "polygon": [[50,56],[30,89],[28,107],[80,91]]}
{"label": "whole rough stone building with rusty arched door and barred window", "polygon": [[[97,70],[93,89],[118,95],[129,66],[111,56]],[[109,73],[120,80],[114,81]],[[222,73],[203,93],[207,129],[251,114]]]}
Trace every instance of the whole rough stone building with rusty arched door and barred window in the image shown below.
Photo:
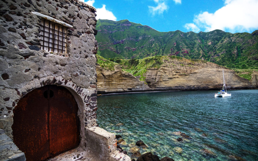
{"label": "whole rough stone building with rusty arched door and barred window", "polygon": [[130,160],[96,124],[95,8],[2,0],[0,10],[1,160]]}

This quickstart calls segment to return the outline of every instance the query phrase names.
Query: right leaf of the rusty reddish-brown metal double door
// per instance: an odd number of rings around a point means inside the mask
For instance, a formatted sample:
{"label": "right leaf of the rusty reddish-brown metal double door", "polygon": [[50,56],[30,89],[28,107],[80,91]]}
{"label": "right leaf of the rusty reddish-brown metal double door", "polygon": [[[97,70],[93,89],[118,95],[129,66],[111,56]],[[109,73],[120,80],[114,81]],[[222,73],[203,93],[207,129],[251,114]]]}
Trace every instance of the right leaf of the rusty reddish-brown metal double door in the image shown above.
{"label": "right leaf of the rusty reddish-brown metal double door", "polygon": [[74,96],[65,87],[51,86],[51,91],[54,95],[49,99],[49,138],[50,153],[55,156],[79,145],[79,118]]}

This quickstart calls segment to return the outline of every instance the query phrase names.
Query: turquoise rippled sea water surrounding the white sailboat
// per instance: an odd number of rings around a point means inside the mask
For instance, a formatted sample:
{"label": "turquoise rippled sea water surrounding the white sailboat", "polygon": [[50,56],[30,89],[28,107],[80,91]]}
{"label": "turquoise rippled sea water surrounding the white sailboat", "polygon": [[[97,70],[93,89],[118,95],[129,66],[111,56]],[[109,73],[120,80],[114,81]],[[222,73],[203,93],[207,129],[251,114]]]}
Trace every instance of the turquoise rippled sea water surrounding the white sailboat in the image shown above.
{"label": "turquoise rippled sea water surrounding the white sailboat", "polygon": [[[232,156],[258,160],[258,90],[231,90],[231,97],[214,97],[217,91],[174,91],[98,97],[97,121],[101,128],[119,134],[120,145],[130,148],[142,140],[160,158],[174,160],[230,160]],[[181,131],[191,137],[178,142]],[[201,149],[214,152],[205,155]],[[136,158],[136,157],[131,157]],[[238,159],[241,159],[238,158]]]}

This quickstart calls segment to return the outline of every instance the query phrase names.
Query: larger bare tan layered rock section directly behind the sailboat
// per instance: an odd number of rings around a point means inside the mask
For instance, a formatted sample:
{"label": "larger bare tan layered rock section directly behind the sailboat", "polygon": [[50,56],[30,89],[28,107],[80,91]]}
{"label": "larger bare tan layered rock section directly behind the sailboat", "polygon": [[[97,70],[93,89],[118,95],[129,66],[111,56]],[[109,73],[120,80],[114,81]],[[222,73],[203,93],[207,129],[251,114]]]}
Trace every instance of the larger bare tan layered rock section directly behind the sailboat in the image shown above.
{"label": "larger bare tan layered rock section directly behind the sailboat", "polygon": [[[206,61],[188,59],[168,59],[159,69],[148,69],[145,81],[156,90],[210,90],[220,89],[223,82],[228,89],[257,88],[255,80],[249,82],[236,75],[235,71]],[[257,74],[254,79],[257,78]]]}

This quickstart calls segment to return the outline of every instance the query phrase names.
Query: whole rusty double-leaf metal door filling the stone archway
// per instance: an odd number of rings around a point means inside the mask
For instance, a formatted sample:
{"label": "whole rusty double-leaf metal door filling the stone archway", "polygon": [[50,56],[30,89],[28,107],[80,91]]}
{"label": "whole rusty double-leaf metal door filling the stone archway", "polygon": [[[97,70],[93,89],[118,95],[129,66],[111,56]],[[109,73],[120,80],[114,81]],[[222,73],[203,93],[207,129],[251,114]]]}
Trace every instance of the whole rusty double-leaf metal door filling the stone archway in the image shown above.
{"label": "whole rusty double-leaf metal door filling the stone archway", "polygon": [[45,160],[79,145],[78,105],[68,89],[47,85],[13,110],[13,141],[26,160]]}

